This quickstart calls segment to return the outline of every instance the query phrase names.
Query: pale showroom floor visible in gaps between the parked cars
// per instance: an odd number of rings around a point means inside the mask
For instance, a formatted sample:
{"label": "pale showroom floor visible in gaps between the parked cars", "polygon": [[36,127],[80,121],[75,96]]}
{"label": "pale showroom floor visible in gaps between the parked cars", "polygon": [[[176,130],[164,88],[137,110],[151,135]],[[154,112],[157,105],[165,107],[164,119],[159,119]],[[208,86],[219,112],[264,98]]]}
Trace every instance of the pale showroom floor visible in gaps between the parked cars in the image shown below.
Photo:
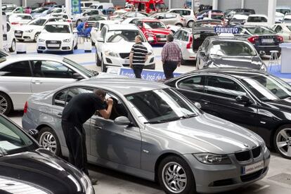
{"label": "pale showroom floor visible in gaps between the parked cars", "polygon": [[[25,43],[27,45],[27,53],[36,53],[36,44]],[[84,65],[84,67],[91,70],[101,71],[100,67],[96,67],[95,64],[95,53],[84,53],[83,45],[79,45],[79,49],[75,51],[73,55],[67,55],[71,60],[75,60],[77,63]],[[157,59],[156,70],[162,70],[162,63],[160,52],[162,47],[155,47],[154,52]],[[268,64],[268,58],[265,58],[265,63]],[[176,72],[188,72],[195,70],[194,64],[189,63],[188,65],[182,65]],[[290,77],[291,79],[291,77]],[[289,81],[289,80],[287,80]],[[20,124],[22,112],[13,112],[9,117]],[[278,154],[271,154],[270,169],[267,176],[261,181],[246,186],[245,188],[240,188],[238,190],[232,190],[228,193],[264,193],[264,194],[289,194],[291,190],[291,165],[290,160],[286,160],[280,157]],[[110,169],[105,169],[102,167],[96,167],[90,165],[90,174],[96,177],[98,185],[94,186],[96,193],[110,193],[110,194],[125,194],[125,193],[164,193],[157,183],[151,181],[145,181],[143,179],[138,179],[134,176],[129,176],[127,174],[122,174],[119,172],[112,171]]]}

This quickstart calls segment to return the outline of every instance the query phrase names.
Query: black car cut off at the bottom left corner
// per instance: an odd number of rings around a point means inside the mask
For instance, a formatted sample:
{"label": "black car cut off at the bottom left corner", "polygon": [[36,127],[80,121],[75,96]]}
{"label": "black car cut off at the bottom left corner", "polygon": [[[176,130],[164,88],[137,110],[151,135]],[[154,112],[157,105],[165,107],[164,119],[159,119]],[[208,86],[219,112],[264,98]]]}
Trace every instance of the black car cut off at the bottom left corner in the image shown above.
{"label": "black car cut off at the bottom left corner", "polygon": [[[30,130],[33,135],[37,130]],[[40,148],[37,141],[0,115],[0,193],[90,193],[88,176]],[[5,185],[5,186],[4,186]]]}

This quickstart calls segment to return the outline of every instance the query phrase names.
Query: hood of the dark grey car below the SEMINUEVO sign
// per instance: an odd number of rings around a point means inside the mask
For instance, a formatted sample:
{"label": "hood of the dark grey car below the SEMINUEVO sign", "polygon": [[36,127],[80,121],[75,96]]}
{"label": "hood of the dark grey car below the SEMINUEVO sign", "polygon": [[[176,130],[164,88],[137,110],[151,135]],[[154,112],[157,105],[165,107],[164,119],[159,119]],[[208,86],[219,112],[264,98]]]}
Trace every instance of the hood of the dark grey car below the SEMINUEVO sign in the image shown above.
{"label": "hood of the dark grey car below the SEMINUEVO sign", "polygon": [[238,67],[259,70],[263,64],[259,56],[211,56],[210,60],[212,60],[214,67]]}

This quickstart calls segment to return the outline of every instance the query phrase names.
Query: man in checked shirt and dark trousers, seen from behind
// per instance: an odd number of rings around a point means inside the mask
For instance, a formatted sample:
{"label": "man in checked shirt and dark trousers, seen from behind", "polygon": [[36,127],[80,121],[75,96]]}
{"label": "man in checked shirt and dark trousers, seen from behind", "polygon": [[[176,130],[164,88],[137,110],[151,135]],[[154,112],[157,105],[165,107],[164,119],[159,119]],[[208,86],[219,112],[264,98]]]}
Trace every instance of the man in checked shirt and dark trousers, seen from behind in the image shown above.
{"label": "man in checked shirt and dark trousers, seen from behind", "polygon": [[174,77],[173,72],[181,65],[181,49],[174,43],[173,34],[167,35],[167,43],[162,48],[162,67],[166,79]]}

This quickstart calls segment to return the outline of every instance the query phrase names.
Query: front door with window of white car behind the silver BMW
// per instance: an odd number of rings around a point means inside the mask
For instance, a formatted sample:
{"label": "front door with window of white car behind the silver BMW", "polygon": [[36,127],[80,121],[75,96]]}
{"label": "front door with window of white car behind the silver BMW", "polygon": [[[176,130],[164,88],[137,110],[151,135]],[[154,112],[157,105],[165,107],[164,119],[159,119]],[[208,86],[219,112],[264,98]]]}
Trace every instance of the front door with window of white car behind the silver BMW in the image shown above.
{"label": "front door with window of white car behind the silver BMW", "polygon": [[77,82],[73,79],[75,70],[53,60],[31,60],[33,77],[32,93],[57,89],[65,84]]}

